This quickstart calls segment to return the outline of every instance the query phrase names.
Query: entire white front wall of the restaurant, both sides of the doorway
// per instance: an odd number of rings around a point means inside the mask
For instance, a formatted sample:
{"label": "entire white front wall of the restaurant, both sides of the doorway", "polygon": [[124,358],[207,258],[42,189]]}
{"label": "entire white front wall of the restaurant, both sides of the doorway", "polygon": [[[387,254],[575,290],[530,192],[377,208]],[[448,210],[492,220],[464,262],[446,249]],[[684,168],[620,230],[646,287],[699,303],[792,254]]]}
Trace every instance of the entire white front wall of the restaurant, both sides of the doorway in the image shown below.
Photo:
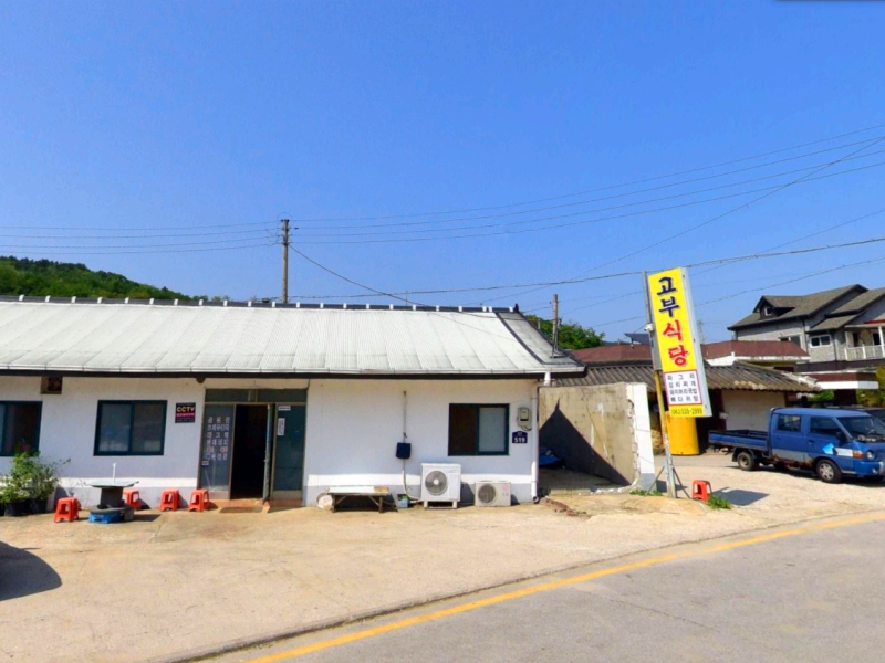
{"label": "entire white front wall of the restaurant, both sides of the doorway", "polygon": [[[387,485],[402,492],[402,461],[395,457],[403,440],[403,392],[407,393],[406,433],[413,443],[407,461],[409,493],[420,491],[420,463],[460,463],[461,481],[510,481],[520,502],[535,495],[538,425],[537,382],[518,380],[227,380],[204,385],[192,378],[64,378],[60,396],[41,396],[40,378],[0,377],[0,400],[42,401],[40,452],[49,461],[70,459],[61,486],[84,506],[95,504],[98,491],[86,484],[107,478],[116,463],[117,478],[136,478],[142,497],[156,506],[164,488],[178,488],[185,499],[197,486],[200,432],[207,388],[308,388],[304,485],[305,504],[330,485]],[[165,400],[166,436],[162,456],[95,456],[100,400]],[[195,423],[175,423],[177,402],[197,403]],[[508,455],[448,456],[449,403],[508,404]],[[512,444],[517,409],[532,410],[528,444]],[[0,473],[9,470],[0,457]],[[468,487],[462,492],[472,498]]]}

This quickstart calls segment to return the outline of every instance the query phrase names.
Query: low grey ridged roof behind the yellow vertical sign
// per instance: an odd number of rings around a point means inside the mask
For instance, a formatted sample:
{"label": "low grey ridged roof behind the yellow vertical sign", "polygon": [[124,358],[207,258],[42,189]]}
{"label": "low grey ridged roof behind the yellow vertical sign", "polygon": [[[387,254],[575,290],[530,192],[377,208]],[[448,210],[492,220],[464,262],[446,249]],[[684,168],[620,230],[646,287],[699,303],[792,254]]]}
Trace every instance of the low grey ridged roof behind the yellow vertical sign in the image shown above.
{"label": "low grey ridged roof behind the yellow vertical sign", "polygon": [[[732,366],[708,366],[707,387],[709,389],[746,391],[819,391],[810,380],[778,370],[737,362]],[[582,387],[615,385],[618,382],[641,382],[648,391],[655,390],[655,379],[650,365],[647,366],[590,366],[583,378],[561,378],[556,385]]]}

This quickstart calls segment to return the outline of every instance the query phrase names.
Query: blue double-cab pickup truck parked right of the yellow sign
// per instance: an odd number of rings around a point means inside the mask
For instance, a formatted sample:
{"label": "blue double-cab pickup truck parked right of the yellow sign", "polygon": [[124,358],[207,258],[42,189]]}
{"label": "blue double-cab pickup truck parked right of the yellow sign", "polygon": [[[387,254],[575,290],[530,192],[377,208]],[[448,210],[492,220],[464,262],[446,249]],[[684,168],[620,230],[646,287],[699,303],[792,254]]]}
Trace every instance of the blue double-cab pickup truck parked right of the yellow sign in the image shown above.
{"label": "blue double-cab pickup truck parked right of the yellow sign", "polygon": [[774,408],[768,431],[711,431],[710,445],[732,450],[741,470],[811,470],[826,483],[885,476],[885,423],[860,410]]}

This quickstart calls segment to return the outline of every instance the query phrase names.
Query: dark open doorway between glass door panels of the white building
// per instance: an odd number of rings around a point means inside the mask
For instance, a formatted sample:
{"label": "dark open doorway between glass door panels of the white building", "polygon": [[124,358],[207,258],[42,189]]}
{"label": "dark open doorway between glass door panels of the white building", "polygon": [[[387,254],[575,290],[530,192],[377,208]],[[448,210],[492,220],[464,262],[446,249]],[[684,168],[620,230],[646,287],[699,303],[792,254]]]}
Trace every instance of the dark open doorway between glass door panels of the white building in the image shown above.
{"label": "dark open doorway between glass door panels of the white building", "polygon": [[237,406],[230,475],[231,499],[261,498],[264,491],[267,441],[268,407]]}

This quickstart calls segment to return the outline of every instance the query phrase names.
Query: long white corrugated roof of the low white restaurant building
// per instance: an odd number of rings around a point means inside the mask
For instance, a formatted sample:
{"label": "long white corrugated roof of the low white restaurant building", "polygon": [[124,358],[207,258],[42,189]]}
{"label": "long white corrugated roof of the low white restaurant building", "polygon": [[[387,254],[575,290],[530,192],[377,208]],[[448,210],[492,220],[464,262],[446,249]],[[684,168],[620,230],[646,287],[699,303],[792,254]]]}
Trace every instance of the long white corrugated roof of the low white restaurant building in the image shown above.
{"label": "long white corrugated roof of the low white restaurant building", "polygon": [[0,371],[581,373],[508,309],[0,302]]}

